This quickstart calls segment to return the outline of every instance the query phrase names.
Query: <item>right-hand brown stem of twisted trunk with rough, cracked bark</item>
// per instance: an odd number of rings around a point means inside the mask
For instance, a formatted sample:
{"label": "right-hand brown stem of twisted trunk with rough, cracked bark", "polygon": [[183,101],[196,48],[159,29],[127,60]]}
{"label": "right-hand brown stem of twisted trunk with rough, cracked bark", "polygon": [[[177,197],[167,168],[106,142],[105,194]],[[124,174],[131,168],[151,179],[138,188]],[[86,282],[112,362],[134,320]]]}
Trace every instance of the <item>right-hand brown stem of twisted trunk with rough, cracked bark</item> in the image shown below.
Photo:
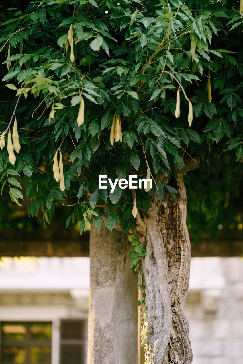
{"label": "right-hand brown stem of twisted trunk with rough, cracked bark", "polygon": [[190,240],[186,226],[186,190],[182,172],[169,185],[177,189],[177,202],[166,194],[161,208],[161,233],[168,265],[172,333],[163,364],[192,363],[189,325],[183,313],[190,274]]}

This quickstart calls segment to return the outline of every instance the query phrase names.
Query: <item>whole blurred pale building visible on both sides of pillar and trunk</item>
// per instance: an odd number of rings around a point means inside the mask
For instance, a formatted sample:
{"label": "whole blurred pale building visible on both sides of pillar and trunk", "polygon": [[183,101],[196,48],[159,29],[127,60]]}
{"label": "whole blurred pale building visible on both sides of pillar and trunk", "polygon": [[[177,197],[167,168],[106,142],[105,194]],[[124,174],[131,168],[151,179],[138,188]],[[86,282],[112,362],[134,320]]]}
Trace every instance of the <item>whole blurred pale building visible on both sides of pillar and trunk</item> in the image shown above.
{"label": "whole blurred pale building visible on both sides of pillar and trunk", "polygon": [[[88,294],[88,257],[0,262],[0,364],[85,364]],[[192,258],[193,364],[243,363],[242,308],[243,260]]]}

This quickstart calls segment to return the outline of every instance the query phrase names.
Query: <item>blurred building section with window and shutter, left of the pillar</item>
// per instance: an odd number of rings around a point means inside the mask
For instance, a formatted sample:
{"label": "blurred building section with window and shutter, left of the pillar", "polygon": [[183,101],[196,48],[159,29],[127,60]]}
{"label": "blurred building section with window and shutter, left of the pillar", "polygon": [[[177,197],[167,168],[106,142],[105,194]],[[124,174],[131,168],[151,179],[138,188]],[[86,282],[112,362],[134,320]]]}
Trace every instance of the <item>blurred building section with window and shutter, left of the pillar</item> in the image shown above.
{"label": "blurred building section with window and shutter, left of the pillar", "polygon": [[1,263],[0,363],[85,364],[89,258]]}

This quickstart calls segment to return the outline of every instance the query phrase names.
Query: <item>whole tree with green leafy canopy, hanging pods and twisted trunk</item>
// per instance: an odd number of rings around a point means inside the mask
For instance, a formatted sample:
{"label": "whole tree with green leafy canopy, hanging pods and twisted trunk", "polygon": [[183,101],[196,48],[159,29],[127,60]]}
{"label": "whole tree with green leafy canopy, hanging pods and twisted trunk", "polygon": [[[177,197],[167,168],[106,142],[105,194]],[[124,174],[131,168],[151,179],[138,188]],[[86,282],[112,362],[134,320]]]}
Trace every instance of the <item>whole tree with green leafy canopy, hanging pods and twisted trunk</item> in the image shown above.
{"label": "whole tree with green leafy canopy, hanging pods and twisted trunk", "polygon": [[[81,234],[88,223],[99,230],[102,219],[109,230],[129,231],[146,363],[191,363],[183,314],[190,267],[184,179],[193,208],[207,219],[216,217],[220,202],[209,179],[220,178],[223,191],[240,181],[239,3],[63,0],[0,7],[1,193],[21,205],[24,184],[29,215],[43,211],[46,223],[54,201],[70,198],[66,225],[81,221]],[[196,167],[196,178],[188,177]],[[109,185],[98,188],[99,175],[151,176],[153,188],[116,185],[111,192]]]}

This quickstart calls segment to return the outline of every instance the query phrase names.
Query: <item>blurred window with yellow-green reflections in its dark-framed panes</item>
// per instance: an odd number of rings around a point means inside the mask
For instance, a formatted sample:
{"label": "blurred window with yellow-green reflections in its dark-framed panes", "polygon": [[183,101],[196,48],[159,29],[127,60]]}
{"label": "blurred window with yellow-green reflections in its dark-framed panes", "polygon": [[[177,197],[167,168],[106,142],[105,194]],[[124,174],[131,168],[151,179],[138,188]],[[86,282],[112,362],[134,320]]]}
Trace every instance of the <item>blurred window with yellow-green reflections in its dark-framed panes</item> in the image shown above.
{"label": "blurred window with yellow-green reflections in its dark-framed panes", "polygon": [[2,322],[1,364],[51,364],[51,323]]}

